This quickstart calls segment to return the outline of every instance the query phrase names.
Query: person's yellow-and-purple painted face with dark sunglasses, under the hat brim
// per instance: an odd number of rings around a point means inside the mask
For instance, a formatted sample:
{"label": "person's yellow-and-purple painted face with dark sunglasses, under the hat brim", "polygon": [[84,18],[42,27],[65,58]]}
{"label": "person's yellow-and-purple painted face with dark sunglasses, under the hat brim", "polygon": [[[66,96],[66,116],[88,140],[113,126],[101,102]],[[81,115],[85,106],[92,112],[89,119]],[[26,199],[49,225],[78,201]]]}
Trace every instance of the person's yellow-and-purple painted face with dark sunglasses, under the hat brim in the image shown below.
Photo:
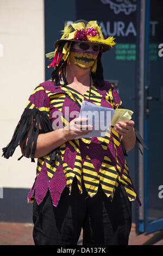
{"label": "person's yellow-and-purple painted face with dark sunglasses, under the hat brim", "polygon": [[95,62],[99,53],[99,45],[89,42],[80,42],[73,45],[70,53],[70,63],[80,69],[89,69]]}

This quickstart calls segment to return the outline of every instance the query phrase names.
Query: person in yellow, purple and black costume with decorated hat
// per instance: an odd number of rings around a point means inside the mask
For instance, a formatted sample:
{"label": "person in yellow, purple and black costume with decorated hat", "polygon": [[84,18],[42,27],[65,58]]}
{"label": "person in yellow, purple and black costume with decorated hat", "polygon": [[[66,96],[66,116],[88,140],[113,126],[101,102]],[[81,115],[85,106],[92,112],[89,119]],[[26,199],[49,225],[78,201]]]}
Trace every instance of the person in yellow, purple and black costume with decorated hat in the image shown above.
{"label": "person in yellow, purple and black costume with decorated hat", "polygon": [[[101,62],[116,42],[104,38],[97,21],[65,24],[61,32],[55,51],[46,54],[52,59],[52,79],[29,96],[3,156],[8,159],[20,144],[18,160],[37,159],[28,194],[35,245],[77,245],[82,228],[83,245],[127,245],[131,202],[141,205],[124,157],[135,145],[134,121],[91,138],[92,126],[82,123],[86,119],[71,115],[79,114],[83,100],[122,106],[115,87],[104,81]],[[82,135],[87,138],[76,138]]]}

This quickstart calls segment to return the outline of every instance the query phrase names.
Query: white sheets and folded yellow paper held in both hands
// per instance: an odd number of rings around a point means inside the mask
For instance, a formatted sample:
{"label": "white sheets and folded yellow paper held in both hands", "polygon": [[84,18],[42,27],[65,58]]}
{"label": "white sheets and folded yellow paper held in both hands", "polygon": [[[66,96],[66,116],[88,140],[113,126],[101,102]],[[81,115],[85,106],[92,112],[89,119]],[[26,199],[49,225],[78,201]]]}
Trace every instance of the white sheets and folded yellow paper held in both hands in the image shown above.
{"label": "white sheets and folded yellow paper held in both hands", "polygon": [[111,132],[110,126],[115,126],[120,120],[123,122],[130,120],[132,114],[133,111],[129,109],[112,109],[83,101],[79,117],[86,117],[88,119],[86,124],[93,125],[93,130],[87,135],[76,138],[104,137],[106,131]]}

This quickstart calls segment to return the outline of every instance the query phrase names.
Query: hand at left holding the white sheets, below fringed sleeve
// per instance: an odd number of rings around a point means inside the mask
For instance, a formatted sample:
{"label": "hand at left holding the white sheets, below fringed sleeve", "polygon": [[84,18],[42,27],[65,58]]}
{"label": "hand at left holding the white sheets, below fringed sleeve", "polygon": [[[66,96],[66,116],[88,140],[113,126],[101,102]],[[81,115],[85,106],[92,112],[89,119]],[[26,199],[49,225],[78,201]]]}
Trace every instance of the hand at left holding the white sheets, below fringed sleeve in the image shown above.
{"label": "hand at left holding the white sheets, below fringed sleeve", "polygon": [[87,135],[92,131],[92,125],[82,124],[82,122],[85,121],[87,121],[87,118],[74,118],[70,121],[70,123],[63,129],[66,141],[75,139],[78,136]]}

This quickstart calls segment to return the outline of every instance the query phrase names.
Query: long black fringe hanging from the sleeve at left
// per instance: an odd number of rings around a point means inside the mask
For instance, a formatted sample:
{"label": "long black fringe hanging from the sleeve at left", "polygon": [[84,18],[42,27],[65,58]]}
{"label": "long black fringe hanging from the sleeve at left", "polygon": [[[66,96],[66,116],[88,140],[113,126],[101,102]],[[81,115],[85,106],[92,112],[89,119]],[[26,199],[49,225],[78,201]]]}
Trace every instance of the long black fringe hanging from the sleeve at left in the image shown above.
{"label": "long black fringe hanging from the sleeve at left", "polygon": [[[41,130],[39,128],[39,125],[41,126]],[[28,142],[27,136],[28,132]],[[14,135],[12,136],[12,139],[10,143],[7,145],[7,147],[3,148],[3,155],[6,159],[8,159],[10,156],[14,154],[14,151],[16,147],[23,142],[23,154],[26,150],[26,157],[29,158],[29,155],[31,153],[31,161],[35,162],[35,150],[36,150],[36,143],[37,143],[37,137],[39,133],[47,133],[53,131],[53,127],[51,124],[51,120],[49,119],[48,115],[44,112],[39,111],[37,108],[29,109],[25,108],[24,112],[22,113],[21,119],[18,122],[16,129],[14,131]],[[61,156],[59,148],[54,149],[50,154],[50,159],[52,166],[55,164],[56,160],[56,153],[58,153],[59,161],[61,162]],[[20,160],[23,157],[23,155],[18,159]]]}

